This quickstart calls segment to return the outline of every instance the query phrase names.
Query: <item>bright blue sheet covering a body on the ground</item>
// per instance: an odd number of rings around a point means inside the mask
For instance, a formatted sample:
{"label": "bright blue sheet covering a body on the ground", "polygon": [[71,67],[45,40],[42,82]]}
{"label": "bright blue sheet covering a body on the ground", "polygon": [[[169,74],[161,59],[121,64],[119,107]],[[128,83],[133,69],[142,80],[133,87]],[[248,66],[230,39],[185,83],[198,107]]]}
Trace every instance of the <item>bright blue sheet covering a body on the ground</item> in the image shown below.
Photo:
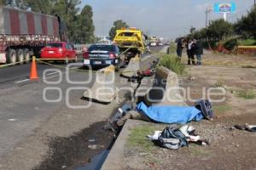
{"label": "bright blue sheet covering a body on the ground", "polygon": [[137,111],[143,112],[155,122],[185,124],[190,121],[201,121],[203,115],[195,107],[189,106],[150,106],[143,102],[137,105]]}

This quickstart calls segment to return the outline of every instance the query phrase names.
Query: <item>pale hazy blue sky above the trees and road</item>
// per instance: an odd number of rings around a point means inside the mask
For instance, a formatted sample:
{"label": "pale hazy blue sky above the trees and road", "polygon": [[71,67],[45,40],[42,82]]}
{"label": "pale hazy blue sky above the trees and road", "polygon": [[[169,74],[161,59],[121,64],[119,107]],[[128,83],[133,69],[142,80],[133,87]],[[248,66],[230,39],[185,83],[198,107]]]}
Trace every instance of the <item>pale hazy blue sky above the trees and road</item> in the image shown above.
{"label": "pale hazy blue sky above the trees and road", "polygon": [[[147,35],[172,39],[189,33],[191,26],[206,26],[206,8],[214,3],[236,3],[236,13],[227,14],[234,22],[253,6],[253,0],[82,0],[80,8],[93,8],[96,36],[108,36],[113,21],[124,20]],[[223,14],[210,13],[210,20]]]}

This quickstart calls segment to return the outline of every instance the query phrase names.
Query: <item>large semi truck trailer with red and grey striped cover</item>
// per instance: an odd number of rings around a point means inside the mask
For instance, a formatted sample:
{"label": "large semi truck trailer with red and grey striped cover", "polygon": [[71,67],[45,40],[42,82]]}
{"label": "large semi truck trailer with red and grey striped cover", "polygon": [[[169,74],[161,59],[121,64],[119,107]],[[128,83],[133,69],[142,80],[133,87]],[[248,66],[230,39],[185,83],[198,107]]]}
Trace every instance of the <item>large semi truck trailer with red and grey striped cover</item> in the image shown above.
{"label": "large semi truck trailer with red and grey striped cover", "polygon": [[0,7],[0,64],[23,64],[47,42],[67,41],[60,17]]}

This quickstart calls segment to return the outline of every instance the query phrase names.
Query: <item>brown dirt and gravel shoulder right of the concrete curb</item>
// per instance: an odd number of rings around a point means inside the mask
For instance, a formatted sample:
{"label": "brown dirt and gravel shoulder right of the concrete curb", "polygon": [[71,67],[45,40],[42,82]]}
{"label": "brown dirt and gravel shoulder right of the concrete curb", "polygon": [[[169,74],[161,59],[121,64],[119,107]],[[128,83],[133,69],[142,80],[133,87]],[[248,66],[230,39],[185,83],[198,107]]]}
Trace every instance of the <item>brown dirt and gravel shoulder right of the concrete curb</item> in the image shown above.
{"label": "brown dirt and gravel shoulder right of the concrete curb", "polygon": [[[249,56],[207,52],[204,57],[216,63],[242,59],[250,65],[256,64],[256,58]],[[135,134],[142,140],[137,146],[127,142],[123,169],[256,169],[256,133],[230,129],[236,124],[256,124],[255,73],[256,69],[241,65],[188,65],[187,74],[180,79],[181,87],[190,88],[192,99],[201,99],[204,88],[224,88],[226,92],[222,96],[224,101],[212,103],[215,113],[212,122],[191,122],[202,139],[210,140],[210,145],[162,149],[145,136],[165,125],[134,127],[131,131],[141,132]],[[187,103],[193,105],[189,100]]]}

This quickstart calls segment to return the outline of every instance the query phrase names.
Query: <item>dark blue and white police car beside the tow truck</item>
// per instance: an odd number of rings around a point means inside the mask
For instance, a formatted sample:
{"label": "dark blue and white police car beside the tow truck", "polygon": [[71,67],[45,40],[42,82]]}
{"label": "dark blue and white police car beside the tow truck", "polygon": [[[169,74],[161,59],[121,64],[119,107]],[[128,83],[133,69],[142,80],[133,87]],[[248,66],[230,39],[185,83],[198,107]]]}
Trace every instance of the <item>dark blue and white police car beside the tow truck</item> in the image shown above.
{"label": "dark blue and white police car beside the tow truck", "polygon": [[119,47],[112,44],[93,44],[88,51],[83,54],[84,67],[90,65],[92,68],[114,65],[119,71],[125,65],[125,57],[120,56]]}

